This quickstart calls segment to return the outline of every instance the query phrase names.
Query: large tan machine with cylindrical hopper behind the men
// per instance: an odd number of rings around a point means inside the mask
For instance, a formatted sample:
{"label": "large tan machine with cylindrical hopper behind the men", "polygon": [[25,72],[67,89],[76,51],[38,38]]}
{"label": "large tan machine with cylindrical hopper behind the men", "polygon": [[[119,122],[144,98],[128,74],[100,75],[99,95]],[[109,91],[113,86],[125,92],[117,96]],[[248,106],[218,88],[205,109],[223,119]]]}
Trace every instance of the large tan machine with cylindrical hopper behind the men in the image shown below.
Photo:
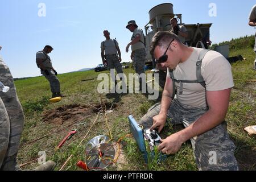
{"label": "large tan machine with cylindrical hopper behind the men", "polygon": [[184,24],[182,22],[182,15],[174,14],[173,7],[172,3],[163,3],[153,7],[148,13],[150,21],[144,26],[147,43],[146,64],[152,64],[152,57],[149,51],[152,37],[158,31],[170,31],[172,28],[170,19],[174,17],[177,18],[178,24],[183,24],[187,28],[188,36],[185,39],[185,44],[192,47],[208,48],[212,23]]}

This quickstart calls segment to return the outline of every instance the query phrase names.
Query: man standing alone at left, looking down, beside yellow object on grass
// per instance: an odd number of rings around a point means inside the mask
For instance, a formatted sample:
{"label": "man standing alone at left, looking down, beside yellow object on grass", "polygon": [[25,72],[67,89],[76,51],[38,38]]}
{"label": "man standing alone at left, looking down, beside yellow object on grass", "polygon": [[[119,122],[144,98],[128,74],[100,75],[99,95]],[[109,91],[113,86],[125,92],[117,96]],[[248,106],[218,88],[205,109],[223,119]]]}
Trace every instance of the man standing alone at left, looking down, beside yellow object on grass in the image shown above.
{"label": "man standing alone at left, looking down, beside yellow object on grass", "polygon": [[36,64],[38,68],[41,69],[41,74],[46,77],[51,86],[52,98],[62,97],[60,93],[60,81],[56,77],[58,74],[52,67],[51,58],[48,53],[52,52],[53,48],[51,46],[44,47],[43,51],[36,53]]}

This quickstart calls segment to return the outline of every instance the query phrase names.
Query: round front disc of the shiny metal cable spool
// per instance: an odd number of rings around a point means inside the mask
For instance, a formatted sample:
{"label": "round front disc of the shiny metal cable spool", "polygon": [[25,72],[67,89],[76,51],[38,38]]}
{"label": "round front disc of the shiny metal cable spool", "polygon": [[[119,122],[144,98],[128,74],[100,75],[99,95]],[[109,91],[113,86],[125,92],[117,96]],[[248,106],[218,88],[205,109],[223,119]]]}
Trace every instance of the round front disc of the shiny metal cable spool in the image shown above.
{"label": "round front disc of the shiny metal cable spool", "polygon": [[103,170],[113,163],[115,149],[112,144],[101,143],[93,147],[86,155],[86,164],[91,170]]}

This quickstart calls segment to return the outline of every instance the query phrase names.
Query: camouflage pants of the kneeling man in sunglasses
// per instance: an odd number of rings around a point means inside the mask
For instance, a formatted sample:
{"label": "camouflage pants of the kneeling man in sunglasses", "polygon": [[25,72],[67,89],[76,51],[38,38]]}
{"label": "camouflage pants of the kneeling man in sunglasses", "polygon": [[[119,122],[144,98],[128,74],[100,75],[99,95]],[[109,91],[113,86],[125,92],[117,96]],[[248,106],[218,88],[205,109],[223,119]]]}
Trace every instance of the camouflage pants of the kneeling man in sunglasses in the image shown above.
{"label": "camouflage pants of the kneeling man in sunglasses", "polygon": [[[181,105],[174,100],[168,110],[167,121],[175,125],[184,125],[188,127],[201,115],[206,113],[208,107],[191,109]],[[160,103],[152,106],[146,115],[139,121],[144,128],[152,126],[152,118],[160,112]],[[196,164],[199,170],[238,170],[237,160],[234,156],[236,146],[229,138],[226,122],[214,127],[197,137],[191,139]],[[216,154],[216,162],[211,163],[212,155]]]}

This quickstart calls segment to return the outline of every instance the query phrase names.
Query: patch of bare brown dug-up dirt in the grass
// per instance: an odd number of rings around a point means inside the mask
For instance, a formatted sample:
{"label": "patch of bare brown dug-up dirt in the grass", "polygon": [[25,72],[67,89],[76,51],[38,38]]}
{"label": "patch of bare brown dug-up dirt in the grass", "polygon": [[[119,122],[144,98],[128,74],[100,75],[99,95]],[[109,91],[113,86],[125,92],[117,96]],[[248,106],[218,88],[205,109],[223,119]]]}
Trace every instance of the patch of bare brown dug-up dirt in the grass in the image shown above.
{"label": "patch of bare brown dug-up dirt in the grass", "polygon": [[[110,105],[108,103],[106,103],[105,105],[106,110],[116,107],[116,105]],[[98,111],[100,110],[100,105],[89,106],[72,104],[67,106],[61,106],[57,109],[45,111],[43,113],[43,121],[47,123],[55,123],[56,125],[63,125],[64,122],[74,122],[86,117],[86,115],[98,113]]]}

